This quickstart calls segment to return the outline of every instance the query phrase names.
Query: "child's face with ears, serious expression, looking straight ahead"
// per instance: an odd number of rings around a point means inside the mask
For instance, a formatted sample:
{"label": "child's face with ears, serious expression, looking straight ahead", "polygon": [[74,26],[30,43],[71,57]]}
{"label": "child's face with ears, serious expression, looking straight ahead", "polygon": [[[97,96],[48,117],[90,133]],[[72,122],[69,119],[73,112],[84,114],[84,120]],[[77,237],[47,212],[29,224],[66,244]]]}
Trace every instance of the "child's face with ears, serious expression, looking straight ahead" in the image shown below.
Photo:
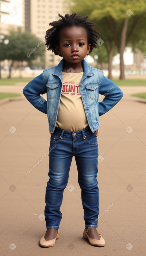
{"label": "child's face with ears, serious expression, looking straight ahead", "polygon": [[90,48],[91,44],[87,42],[86,29],[79,26],[61,29],[59,46],[55,45],[56,52],[71,64],[82,62],[86,54],[90,52]]}

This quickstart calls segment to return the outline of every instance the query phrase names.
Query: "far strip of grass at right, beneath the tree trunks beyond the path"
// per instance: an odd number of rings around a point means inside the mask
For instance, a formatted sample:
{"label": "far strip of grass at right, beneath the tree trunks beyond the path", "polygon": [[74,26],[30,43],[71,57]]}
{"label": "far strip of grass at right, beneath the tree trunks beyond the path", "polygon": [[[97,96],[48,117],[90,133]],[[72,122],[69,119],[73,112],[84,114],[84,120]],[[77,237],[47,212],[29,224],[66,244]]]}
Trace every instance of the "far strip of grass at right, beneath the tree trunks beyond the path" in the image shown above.
{"label": "far strip of grass at right, beneath the tree trunks beyond the path", "polygon": [[146,79],[113,79],[112,81],[118,86],[146,86]]}

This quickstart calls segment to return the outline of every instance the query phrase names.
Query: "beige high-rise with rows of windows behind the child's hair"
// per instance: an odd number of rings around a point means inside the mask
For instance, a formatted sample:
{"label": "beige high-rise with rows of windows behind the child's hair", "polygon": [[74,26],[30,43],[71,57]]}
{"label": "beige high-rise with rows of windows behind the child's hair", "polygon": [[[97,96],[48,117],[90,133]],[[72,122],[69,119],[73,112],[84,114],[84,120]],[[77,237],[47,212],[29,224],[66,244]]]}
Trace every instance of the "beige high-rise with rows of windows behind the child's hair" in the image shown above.
{"label": "beige high-rise with rows of windows behind the child's hair", "polygon": [[[62,1],[63,2],[63,1]],[[29,28],[40,41],[44,39],[49,23],[59,20],[58,14],[68,12],[67,7],[59,0],[25,0],[25,26]],[[52,67],[59,63],[61,58],[55,56],[46,48],[45,67]]]}

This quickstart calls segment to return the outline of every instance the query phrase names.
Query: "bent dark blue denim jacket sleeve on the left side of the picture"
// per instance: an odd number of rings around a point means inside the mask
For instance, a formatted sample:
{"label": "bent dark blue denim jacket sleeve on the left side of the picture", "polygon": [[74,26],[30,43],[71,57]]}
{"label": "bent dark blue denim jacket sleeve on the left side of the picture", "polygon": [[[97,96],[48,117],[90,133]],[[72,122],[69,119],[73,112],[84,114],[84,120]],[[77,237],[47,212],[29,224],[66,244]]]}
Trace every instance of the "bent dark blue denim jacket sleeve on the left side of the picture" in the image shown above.
{"label": "bent dark blue denim jacket sleeve on the left side of the picture", "polygon": [[28,99],[35,108],[45,114],[47,114],[47,101],[41,97],[40,94],[46,93],[46,83],[42,73],[23,88],[23,94],[26,99]]}

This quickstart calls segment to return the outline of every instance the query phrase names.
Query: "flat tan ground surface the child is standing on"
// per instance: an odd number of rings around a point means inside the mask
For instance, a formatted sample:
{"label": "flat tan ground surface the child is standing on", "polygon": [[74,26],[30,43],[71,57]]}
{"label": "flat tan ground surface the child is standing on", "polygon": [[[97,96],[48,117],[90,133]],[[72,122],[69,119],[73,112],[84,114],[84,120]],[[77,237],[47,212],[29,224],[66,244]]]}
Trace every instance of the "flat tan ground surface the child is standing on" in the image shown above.
{"label": "flat tan ground surface the child is standing on", "polygon": [[[1,86],[0,91],[22,93],[23,87]],[[54,247],[39,247],[46,232],[47,115],[25,97],[0,106],[1,256],[145,255],[146,103],[130,95],[146,92],[146,87],[121,89],[122,100],[99,118],[97,230],[106,241],[102,248],[82,237],[84,211],[74,158],[61,206],[60,238]]]}

